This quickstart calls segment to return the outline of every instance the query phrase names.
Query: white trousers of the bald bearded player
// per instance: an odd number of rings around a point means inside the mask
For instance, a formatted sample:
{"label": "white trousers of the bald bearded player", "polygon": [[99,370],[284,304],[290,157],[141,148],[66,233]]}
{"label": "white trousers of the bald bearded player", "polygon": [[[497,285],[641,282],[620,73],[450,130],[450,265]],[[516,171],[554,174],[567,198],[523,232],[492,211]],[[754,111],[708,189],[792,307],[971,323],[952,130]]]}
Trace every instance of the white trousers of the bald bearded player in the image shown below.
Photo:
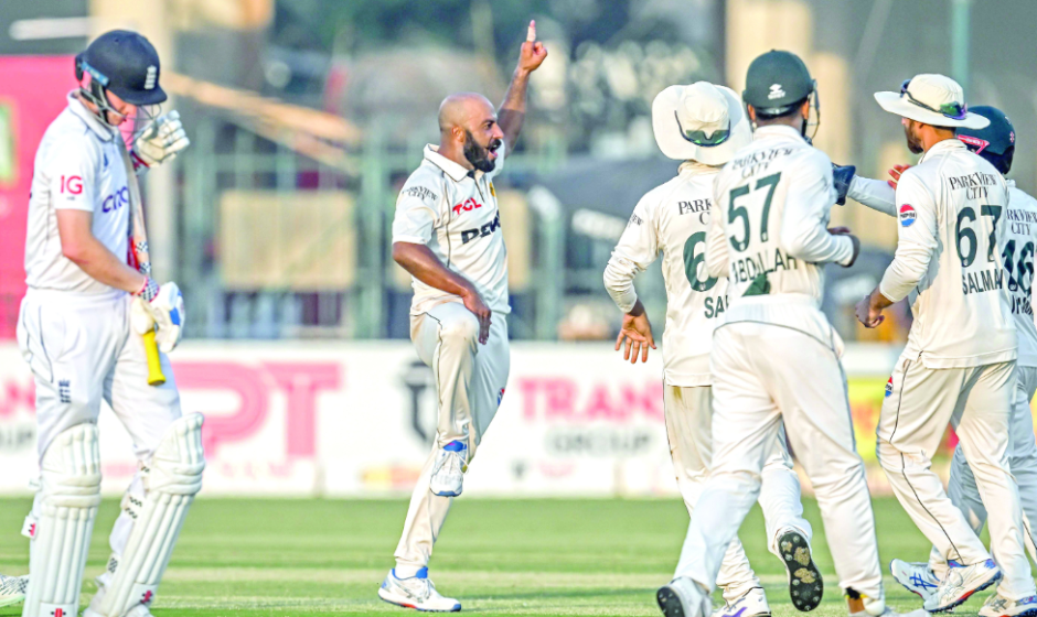
{"label": "white trousers of the bald bearded player", "polygon": [[396,575],[402,577],[414,576],[428,565],[453,500],[428,489],[436,454],[457,440],[468,444],[471,462],[501,404],[511,362],[506,316],[493,313],[490,339],[480,345],[479,320],[460,302],[445,302],[411,315],[410,338],[418,357],[432,369],[439,424],[396,546]]}

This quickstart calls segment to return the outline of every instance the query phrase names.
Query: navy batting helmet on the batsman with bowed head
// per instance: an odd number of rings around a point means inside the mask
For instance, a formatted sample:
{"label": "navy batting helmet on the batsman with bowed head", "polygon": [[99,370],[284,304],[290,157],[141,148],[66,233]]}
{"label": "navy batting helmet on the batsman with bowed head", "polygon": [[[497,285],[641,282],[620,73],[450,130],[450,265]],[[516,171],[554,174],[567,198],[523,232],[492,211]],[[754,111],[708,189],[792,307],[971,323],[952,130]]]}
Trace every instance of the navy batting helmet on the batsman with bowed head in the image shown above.
{"label": "navy batting helmet on the batsman with bowed head", "polygon": [[168,98],[159,86],[159,68],[154,46],[128,30],[101,34],[76,56],[77,75],[88,73],[106,90],[132,105],[157,105]]}

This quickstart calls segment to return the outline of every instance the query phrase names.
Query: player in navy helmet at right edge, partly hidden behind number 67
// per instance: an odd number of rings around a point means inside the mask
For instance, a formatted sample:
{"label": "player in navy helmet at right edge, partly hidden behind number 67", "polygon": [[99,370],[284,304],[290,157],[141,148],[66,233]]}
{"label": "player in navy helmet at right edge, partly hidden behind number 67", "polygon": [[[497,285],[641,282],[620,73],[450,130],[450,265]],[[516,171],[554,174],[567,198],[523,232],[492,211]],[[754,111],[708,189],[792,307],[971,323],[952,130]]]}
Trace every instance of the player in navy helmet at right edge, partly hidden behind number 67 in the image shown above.
{"label": "player in navy helmet at right edge, partly hidden behind number 67", "polygon": [[[975,107],[970,110],[972,113],[985,118],[988,122],[985,127],[980,127],[979,121],[973,121],[970,126],[960,126],[954,129],[959,140],[965,147],[986,160],[1001,175],[1005,175],[1012,169],[1012,159],[1015,152],[1015,130],[1008,118],[998,109],[993,107]],[[933,121],[943,121],[936,120]],[[912,139],[918,140],[917,133]],[[951,144],[955,147],[956,144]],[[964,159],[964,158],[963,158]],[[931,161],[927,153],[923,161]],[[974,163],[974,161],[973,161]],[[846,173],[844,185],[847,188],[848,196],[862,204],[897,217],[902,206],[898,208],[898,197],[895,188],[899,190],[899,181],[907,177],[906,190],[917,186],[916,176],[902,175],[907,167],[897,166],[891,174],[894,181],[887,185],[881,181],[855,177],[853,169],[842,167],[836,173]],[[924,170],[923,170],[924,171]],[[974,173],[974,172],[973,172]],[[990,170],[983,173],[988,174]],[[958,171],[947,172],[941,175],[941,184],[948,183],[948,191],[953,192],[956,188],[956,180],[962,174]],[[924,175],[922,176],[926,177]],[[950,185],[949,177],[955,177],[953,186]],[[982,178],[981,175],[973,175],[974,178]],[[972,180],[969,180],[970,185]],[[1023,541],[1029,550],[1030,555],[1037,559],[1037,550],[1034,546],[1033,531],[1029,521],[1037,520],[1037,442],[1034,437],[1033,416],[1030,414],[1029,402],[1037,391],[1037,327],[1034,325],[1034,313],[1031,306],[1033,281],[1034,281],[1034,247],[1037,242],[1037,201],[1015,187],[1013,181],[1005,181],[1008,190],[1008,205],[1003,214],[998,213],[997,220],[994,221],[995,250],[994,268],[1001,266],[999,272],[993,280],[993,289],[987,290],[991,294],[998,291],[1007,291],[1011,303],[1011,312],[1016,326],[1018,338],[1018,358],[1016,360],[1016,378],[1011,389],[1011,419],[1008,421],[1008,469],[1015,477],[1018,485],[1019,499],[1023,506]],[[967,191],[967,190],[966,190]],[[987,212],[994,214],[996,206],[987,198],[988,186],[976,184],[972,188],[983,205],[988,208]],[[985,193],[985,194],[984,194]],[[906,197],[907,199],[907,197]],[[910,204],[912,209],[917,209],[917,204]],[[967,207],[967,206],[966,206]],[[904,210],[910,212],[910,210]],[[964,212],[964,208],[962,210]],[[966,214],[960,215],[967,218]],[[915,218],[900,218],[900,226],[905,221],[911,221],[907,227],[915,225]],[[971,238],[964,240],[963,245]],[[971,251],[970,251],[971,252]],[[988,266],[988,261],[981,262]],[[982,280],[982,277],[980,278]],[[969,290],[970,294],[976,293],[975,289],[969,288],[967,281],[962,281],[962,290]],[[913,328],[912,328],[913,332]],[[975,335],[975,334],[974,334]],[[980,336],[980,335],[976,335]],[[919,351],[916,349],[915,354]],[[924,355],[922,356],[924,359]],[[897,383],[894,380],[892,391],[896,391]],[[907,385],[905,385],[907,387]],[[902,403],[901,403],[902,407]],[[965,408],[969,409],[969,408]],[[942,433],[942,431],[941,431]],[[974,437],[973,437],[974,439]],[[984,446],[985,447],[985,446]],[[988,517],[988,508],[984,505],[976,475],[971,465],[966,463],[964,444],[959,443],[954,451],[954,457],[951,463],[951,477],[948,481],[947,497],[951,504],[962,510],[964,520],[979,534]],[[894,457],[896,463],[897,458]],[[896,466],[896,465],[895,465]],[[899,472],[896,472],[899,474]],[[928,505],[928,502],[927,502]],[[999,506],[991,508],[999,508]],[[993,526],[992,526],[993,527]],[[965,545],[965,544],[963,544]],[[964,550],[964,549],[963,549]],[[997,556],[997,546],[995,545],[995,558]],[[940,593],[943,593],[947,585],[943,583],[955,584],[954,580],[967,572],[964,566],[970,562],[961,561],[964,555],[953,552],[944,553],[934,544],[928,563],[910,563],[901,560],[894,560],[890,570],[894,577],[909,591],[917,593],[926,602],[937,602],[933,599]],[[982,556],[982,555],[980,555]],[[977,559],[973,556],[972,559]],[[1025,556],[1024,556],[1025,560]],[[998,559],[998,563],[1001,560]],[[1002,564],[1004,565],[1004,564]],[[973,570],[975,570],[973,567]],[[984,567],[985,570],[985,567]],[[1020,592],[1024,593],[1024,592]],[[1019,615],[1037,615],[1037,598],[1009,598],[1001,593],[994,594],[980,610],[984,617],[1001,617]]]}

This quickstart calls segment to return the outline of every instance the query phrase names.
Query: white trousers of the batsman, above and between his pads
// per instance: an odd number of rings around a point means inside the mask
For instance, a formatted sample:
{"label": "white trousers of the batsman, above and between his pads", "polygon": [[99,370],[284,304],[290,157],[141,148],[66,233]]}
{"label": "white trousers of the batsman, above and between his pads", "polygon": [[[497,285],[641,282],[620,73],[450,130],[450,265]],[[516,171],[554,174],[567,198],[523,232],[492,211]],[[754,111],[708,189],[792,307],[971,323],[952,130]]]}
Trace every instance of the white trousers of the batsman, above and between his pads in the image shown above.
{"label": "white trousers of the batsman, above and between his pads", "polygon": [[[79,295],[30,289],[18,317],[18,344],[36,385],[38,455],[77,424],[96,424],[107,401],[133,441],[140,466],[148,465],[165,429],[181,416],[180,393],[169,357],[160,353],[165,383],[148,386],[143,338],[129,323],[132,296],[124,292]],[[129,495],[143,500],[140,474]],[[39,500],[39,494],[38,494]],[[33,505],[39,515],[39,506]],[[122,554],[133,528],[124,509],[109,537]]]}

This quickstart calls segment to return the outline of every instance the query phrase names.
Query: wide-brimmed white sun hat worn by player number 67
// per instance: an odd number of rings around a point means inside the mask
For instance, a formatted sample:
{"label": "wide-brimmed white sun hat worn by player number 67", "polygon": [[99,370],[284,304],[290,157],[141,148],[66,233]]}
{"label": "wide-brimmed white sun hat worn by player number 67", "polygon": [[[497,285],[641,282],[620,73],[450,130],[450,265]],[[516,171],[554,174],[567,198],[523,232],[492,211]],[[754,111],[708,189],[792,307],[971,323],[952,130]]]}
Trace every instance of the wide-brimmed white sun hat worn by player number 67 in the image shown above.
{"label": "wide-brimmed white sun hat worn by player number 67", "polygon": [[916,75],[900,86],[900,94],[875,93],[883,109],[933,127],[983,129],[990,120],[969,111],[958,82],[944,75]]}

